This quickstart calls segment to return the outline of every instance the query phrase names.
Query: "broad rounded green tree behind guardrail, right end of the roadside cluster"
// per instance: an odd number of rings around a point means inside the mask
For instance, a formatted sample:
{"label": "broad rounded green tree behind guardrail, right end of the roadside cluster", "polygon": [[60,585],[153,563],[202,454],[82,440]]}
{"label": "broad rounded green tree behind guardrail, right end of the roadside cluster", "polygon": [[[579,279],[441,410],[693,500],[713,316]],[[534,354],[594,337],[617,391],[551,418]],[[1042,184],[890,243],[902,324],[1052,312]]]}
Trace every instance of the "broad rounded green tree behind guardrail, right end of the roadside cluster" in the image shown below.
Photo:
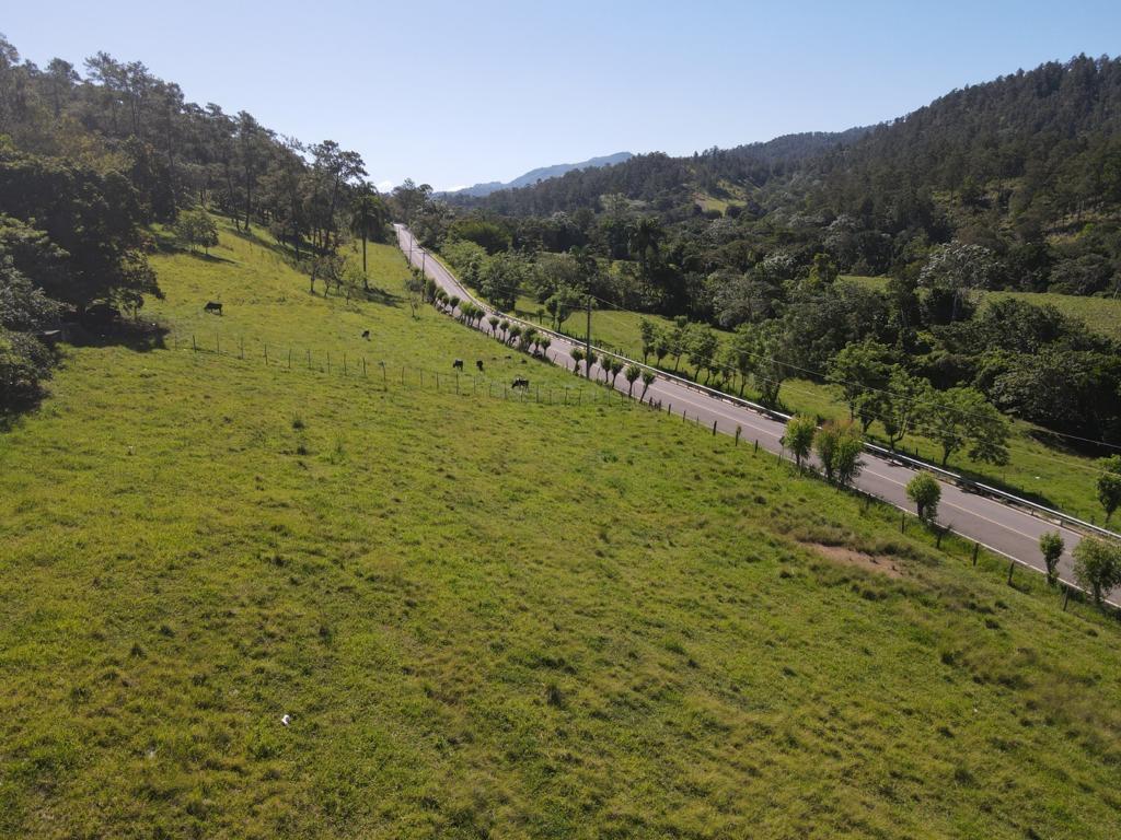
{"label": "broad rounded green tree behind guardrail, right end of the roadside cluster", "polygon": [[965,447],[973,460],[1008,463],[1008,420],[975,389],[952,388],[934,395],[921,426],[942,447],[942,466]]}

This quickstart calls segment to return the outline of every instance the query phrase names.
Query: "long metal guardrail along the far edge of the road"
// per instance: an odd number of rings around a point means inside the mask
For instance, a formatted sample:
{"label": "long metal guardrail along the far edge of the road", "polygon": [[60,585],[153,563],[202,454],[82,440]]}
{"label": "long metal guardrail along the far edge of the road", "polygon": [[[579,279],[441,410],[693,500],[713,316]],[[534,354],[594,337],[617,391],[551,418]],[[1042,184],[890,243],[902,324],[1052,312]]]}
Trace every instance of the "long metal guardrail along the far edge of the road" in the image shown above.
{"label": "long metal guardrail along the far edge of the road", "polygon": [[[407,228],[405,228],[404,225],[401,225],[401,228],[407,231]],[[408,235],[410,237],[413,237],[413,233],[411,232],[408,232]],[[415,237],[413,237],[413,242],[416,243],[416,239]],[[434,260],[436,260],[448,272],[448,274],[452,273],[451,270],[444,264],[444,261],[441,260],[435,254],[433,254],[430,251],[427,251],[426,249],[421,248],[419,244],[416,244],[416,251],[418,251],[420,253],[427,253],[430,258],[433,258]],[[521,324],[524,326],[532,327],[538,333],[548,333],[550,336],[554,336],[555,338],[559,338],[563,342],[569,342],[569,343],[581,344],[581,342],[580,342],[578,338],[575,338],[575,337],[573,337],[571,335],[565,335],[564,333],[558,333],[555,329],[549,329],[548,327],[541,326],[539,324],[534,324],[532,321],[525,320],[525,319],[519,318],[517,316],[507,315],[506,312],[502,312],[502,311],[495,309],[494,307],[490,306],[485,301],[479,300],[474,295],[472,295],[470,291],[467,291],[466,287],[464,287],[457,280],[456,280],[456,284],[460,287],[460,290],[463,292],[464,297],[466,297],[472,304],[474,304],[475,306],[480,307],[481,309],[483,309],[484,311],[487,311],[487,312],[489,312],[491,315],[498,315],[498,316],[504,318],[506,320],[513,321],[516,324]],[[650,371],[651,373],[654,373],[659,379],[667,380],[667,381],[673,382],[673,383],[675,383],[675,384],[677,384],[677,385],[679,385],[682,388],[685,388],[685,389],[688,389],[691,391],[696,391],[698,393],[705,394],[706,396],[711,396],[711,398],[714,398],[714,399],[717,399],[717,400],[722,400],[723,402],[728,402],[728,403],[731,403],[733,405],[739,405],[740,408],[745,408],[745,409],[748,409],[750,411],[756,412],[757,414],[762,414],[763,417],[768,417],[771,420],[780,420],[782,422],[786,422],[791,417],[791,414],[787,414],[787,413],[785,413],[782,411],[777,411],[776,409],[769,408],[767,405],[762,405],[762,404],[760,404],[758,402],[752,402],[751,400],[744,400],[742,396],[735,396],[733,394],[724,393],[723,391],[717,391],[714,388],[708,388],[707,385],[702,385],[700,382],[694,382],[693,380],[687,380],[684,376],[678,376],[677,374],[668,373],[667,371],[663,371],[660,367],[654,367],[652,365],[648,365],[645,362],[639,362],[638,360],[630,358],[630,357],[623,355],[622,353],[615,353],[613,351],[604,349],[604,348],[602,348],[602,347],[600,347],[600,346],[597,346],[595,344],[592,345],[592,348],[594,351],[596,351],[597,353],[603,353],[603,354],[606,354],[609,356],[613,356],[613,357],[619,358],[622,362],[626,362],[628,364],[633,364],[633,365],[637,365],[640,368]],[[1106,536],[1106,538],[1110,538],[1110,539],[1113,539],[1113,540],[1121,540],[1121,534],[1117,533],[1115,531],[1110,531],[1106,528],[1102,528],[1100,525],[1095,525],[1092,522],[1086,522],[1085,520],[1081,520],[1077,516],[1072,516],[1071,514],[1064,513],[1063,511],[1057,511],[1054,507],[1047,507],[1046,505],[1041,505],[1038,502],[1032,502],[1029,498],[1022,498],[1022,497],[1017,496],[1017,495],[1015,495],[1012,493],[1008,493],[1007,491],[1002,491],[1002,489],[1000,489],[998,487],[992,487],[992,486],[990,486],[988,484],[982,484],[980,482],[974,482],[972,478],[966,478],[963,475],[958,475],[957,473],[953,473],[953,472],[951,472],[948,469],[944,469],[943,467],[939,467],[937,465],[934,465],[934,464],[930,464],[928,461],[921,460],[920,458],[912,458],[912,457],[910,457],[908,455],[902,455],[901,452],[897,452],[895,450],[888,449],[888,448],[882,447],[882,446],[880,446],[878,444],[871,444],[869,441],[864,441],[864,449],[867,451],[869,451],[869,452],[872,452],[878,458],[882,458],[882,459],[887,459],[887,460],[902,461],[904,464],[906,464],[906,465],[908,465],[908,466],[910,466],[910,467],[912,467],[915,469],[925,469],[927,472],[934,473],[936,477],[938,477],[942,480],[947,482],[949,484],[954,484],[954,485],[957,485],[958,487],[963,487],[963,488],[973,489],[973,491],[975,491],[975,492],[978,492],[978,493],[980,493],[982,495],[986,495],[986,496],[997,498],[999,501],[1002,501],[1006,504],[1010,504],[1010,505],[1015,505],[1017,507],[1026,508],[1026,511],[1028,513],[1031,513],[1032,515],[1043,515],[1044,517],[1057,519],[1062,523],[1067,524],[1069,526],[1082,529],[1084,531],[1090,531],[1092,533],[1096,533],[1096,534],[1100,534],[1101,536]]]}

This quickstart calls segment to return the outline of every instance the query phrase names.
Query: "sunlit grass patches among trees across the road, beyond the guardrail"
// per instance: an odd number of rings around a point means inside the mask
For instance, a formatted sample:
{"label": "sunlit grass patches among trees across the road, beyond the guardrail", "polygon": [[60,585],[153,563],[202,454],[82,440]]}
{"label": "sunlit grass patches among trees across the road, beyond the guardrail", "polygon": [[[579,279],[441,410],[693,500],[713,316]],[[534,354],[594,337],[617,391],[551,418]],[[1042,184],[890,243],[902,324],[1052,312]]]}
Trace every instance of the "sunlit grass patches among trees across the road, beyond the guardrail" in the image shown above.
{"label": "sunlit grass patches among trees across the road, beyond the guardrail", "polygon": [[[879,278],[849,279],[861,282],[879,280]],[[1071,299],[1069,296],[1062,295],[1045,297]],[[1083,299],[1072,300],[1081,301]],[[1114,301],[1094,302],[1112,304]],[[531,298],[519,298],[517,311],[524,317],[536,319],[538,309],[539,305]],[[641,316],[637,312],[602,309],[593,314],[592,340],[619,353],[628,354],[632,358],[641,358],[639,321],[642,317],[648,317],[664,326],[673,326],[668,318],[656,315]],[[1118,309],[1118,317],[1121,319],[1121,307]],[[546,326],[552,326],[548,315],[545,316],[544,323]],[[563,324],[563,329],[571,335],[583,337],[585,315],[574,312]],[[722,330],[716,330],[716,333],[721,337],[726,335]],[[673,368],[671,358],[664,360],[663,364],[667,370]],[[693,370],[685,357],[682,358],[680,373],[693,375]],[[702,381],[704,381],[703,377]],[[758,399],[758,394],[751,389],[744,391],[744,396]],[[839,390],[819,382],[788,381],[782,384],[780,399],[784,407],[791,412],[809,412],[823,418],[841,418],[849,414],[847,408],[840,400]],[[964,452],[960,452],[949,459],[949,467],[1010,493],[1060,508],[1086,521],[1104,524],[1104,511],[1097,502],[1094,489],[1097,476],[1095,459],[1073,450],[1056,449],[1041,442],[1039,438],[1041,430],[1031,423],[1013,420],[1012,432],[1009,441],[1011,463],[1008,466],[993,467],[990,464],[974,461]],[[869,433],[873,439],[884,442],[883,430],[879,423],[873,423]],[[942,460],[939,448],[921,436],[910,435],[904,439],[901,446],[908,452],[917,452],[935,464]]]}

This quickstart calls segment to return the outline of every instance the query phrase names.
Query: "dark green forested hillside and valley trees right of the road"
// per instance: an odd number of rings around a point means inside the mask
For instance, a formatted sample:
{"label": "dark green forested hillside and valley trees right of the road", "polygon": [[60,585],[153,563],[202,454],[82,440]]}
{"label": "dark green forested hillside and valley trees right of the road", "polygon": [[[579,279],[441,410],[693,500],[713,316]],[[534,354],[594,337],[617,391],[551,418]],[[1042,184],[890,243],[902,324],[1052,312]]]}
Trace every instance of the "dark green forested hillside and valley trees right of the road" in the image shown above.
{"label": "dark green forested hillside and valley trees right of the road", "polygon": [[[1109,455],[1115,340],[1073,307],[980,304],[1121,292],[1119,128],[1121,59],[1080,56],[872,129],[646,155],[456,207],[421,200],[407,221],[500,305],[530,296],[560,323],[591,295],[680,319],[648,329],[645,355],[692,358],[767,402],[804,377],[843,390],[865,430],[915,428],[907,405],[928,404],[924,422],[997,408]],[[995,418],[989,431],[1004,437]]]}

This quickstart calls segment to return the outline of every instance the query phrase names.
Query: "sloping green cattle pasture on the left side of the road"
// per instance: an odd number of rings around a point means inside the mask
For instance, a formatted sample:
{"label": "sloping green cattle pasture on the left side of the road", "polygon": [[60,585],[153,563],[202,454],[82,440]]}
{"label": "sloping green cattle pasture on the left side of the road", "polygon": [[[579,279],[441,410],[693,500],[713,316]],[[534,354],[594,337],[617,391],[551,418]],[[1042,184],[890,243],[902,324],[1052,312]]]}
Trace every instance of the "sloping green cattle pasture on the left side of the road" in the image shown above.
{"label": "sloping green cattle pasture on the left side of the road", "polygon": [[[573,379],[224,240],[159,263],[179,333]],[[0,436],[0,836],[1121,832],[1117,623],[771,456],[182,344],[52,388]]]}

